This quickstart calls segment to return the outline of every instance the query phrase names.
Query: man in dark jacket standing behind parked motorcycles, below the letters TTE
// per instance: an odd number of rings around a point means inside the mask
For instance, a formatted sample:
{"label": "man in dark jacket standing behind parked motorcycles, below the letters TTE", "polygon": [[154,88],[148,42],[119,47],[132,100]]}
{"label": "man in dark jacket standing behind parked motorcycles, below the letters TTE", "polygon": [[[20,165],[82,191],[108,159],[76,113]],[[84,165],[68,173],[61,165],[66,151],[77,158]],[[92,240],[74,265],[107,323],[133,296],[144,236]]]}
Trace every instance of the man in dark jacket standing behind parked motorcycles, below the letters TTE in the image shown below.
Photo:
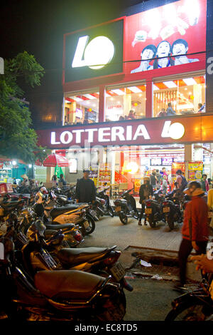
{"label": "man in dark jacket standing behind parked motorcycles, below the letters TTE", "polygon": [[96,197],[94,181],[89,179],[89,170],[84,170],[84,177],[77,180],[75,198],[77,202],[93,202]]}

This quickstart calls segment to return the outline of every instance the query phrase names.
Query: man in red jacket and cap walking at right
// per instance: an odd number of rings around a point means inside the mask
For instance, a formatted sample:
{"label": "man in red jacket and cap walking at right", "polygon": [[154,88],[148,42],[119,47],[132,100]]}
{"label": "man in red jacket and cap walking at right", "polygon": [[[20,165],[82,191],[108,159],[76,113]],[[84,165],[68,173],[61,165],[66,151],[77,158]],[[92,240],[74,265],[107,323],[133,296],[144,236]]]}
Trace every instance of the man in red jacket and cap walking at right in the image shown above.
{"label": "man in red jacket and cap walking at right", "polygon": [[191,197],[184,212],[182,225],[182,242],[178,252],[180,266],[180,285],[175,289],[185,289],[187,257],[195,249],[197,254],[205,254],[209,237],[208,207],[202,198],[204,191],[201,189],[200,182],[190,182],[184,191]]}

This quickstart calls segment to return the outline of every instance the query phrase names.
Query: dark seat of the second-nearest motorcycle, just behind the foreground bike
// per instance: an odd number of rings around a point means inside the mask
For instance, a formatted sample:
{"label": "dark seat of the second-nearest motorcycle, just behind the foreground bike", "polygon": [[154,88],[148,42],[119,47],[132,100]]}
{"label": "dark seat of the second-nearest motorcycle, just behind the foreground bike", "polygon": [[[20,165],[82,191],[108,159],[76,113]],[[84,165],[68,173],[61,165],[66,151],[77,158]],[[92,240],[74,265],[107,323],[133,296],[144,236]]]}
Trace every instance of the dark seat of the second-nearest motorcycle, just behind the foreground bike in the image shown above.
{"label": "dark seat of the second-nearest motorcycle, just behind the foreground bike", "polygon": [[77,265],[83,262],[89,262],[94,258],[102,257],[103,254],[109,251],[109,248],[62,248],[57,256],[62,264]]}

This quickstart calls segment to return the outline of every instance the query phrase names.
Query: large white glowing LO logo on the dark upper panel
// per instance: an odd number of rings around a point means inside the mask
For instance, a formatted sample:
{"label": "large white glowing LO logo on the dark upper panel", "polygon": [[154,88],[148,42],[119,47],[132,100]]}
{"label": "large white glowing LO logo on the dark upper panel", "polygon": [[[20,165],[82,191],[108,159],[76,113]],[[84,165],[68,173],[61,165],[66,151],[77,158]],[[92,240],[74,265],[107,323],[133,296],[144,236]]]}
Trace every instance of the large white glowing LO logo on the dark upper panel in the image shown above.
{"label": "large white glowing LO logo on the dark upper panel", "polygon": [[[114,44],[106,36],[97,36],[88,43],[89,36],[79,38],[72,68],[89,66],[94,70],[103,68],[114,56]],[[88,43],[88,44],[87,44]]]}

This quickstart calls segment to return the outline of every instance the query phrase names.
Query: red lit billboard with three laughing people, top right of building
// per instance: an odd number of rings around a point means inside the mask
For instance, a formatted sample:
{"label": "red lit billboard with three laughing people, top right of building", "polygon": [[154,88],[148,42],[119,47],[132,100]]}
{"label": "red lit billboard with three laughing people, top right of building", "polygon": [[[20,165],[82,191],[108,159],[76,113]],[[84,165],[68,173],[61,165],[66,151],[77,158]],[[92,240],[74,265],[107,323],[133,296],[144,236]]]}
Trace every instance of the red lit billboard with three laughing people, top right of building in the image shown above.
{"label": "red lit billboard with three laughing people, top right of building", "polygon": [[206,8],[205,0],[180,0],[127,16],[125,73],[203,61]]}

